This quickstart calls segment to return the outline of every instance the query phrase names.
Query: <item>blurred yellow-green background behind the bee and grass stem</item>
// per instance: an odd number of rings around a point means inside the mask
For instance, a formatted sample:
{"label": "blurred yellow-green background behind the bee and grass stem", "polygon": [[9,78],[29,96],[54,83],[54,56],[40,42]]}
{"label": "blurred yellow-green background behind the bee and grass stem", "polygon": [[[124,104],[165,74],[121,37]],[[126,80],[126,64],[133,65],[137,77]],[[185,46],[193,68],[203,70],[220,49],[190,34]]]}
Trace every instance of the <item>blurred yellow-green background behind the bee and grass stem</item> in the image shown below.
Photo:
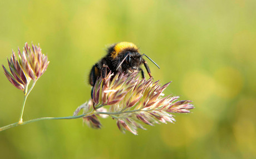
{"label": "blurred yellow-green background behind the bee and grass stem", "polygon": [[[256,1],[1,1],[0,63],[40,43],[50,65],[23,120],[70,116],[90,98],[88,73],[115,42],[134,42],[165,94],[192,100],[176,123],[122,134],[82,120],[0,132],[1,158],[256,158]],[[22,91],[0,73],[0,126],[18,121]]]}

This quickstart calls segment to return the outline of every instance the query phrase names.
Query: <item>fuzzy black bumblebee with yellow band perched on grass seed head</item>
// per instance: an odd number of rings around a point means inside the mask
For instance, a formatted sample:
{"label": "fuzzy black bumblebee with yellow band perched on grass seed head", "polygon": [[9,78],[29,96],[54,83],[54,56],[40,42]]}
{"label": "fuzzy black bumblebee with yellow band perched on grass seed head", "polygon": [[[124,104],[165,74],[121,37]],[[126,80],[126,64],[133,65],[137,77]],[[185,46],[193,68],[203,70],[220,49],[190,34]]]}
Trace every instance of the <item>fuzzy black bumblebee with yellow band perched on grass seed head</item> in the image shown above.
{"label": "fuzzy black bumblebee with yellow band perched on grass seed head", "polygon": [[[145,78],[144,71],[141,69],[143,63],[149,77],[151,78],[151,72],[149,66],[142,56],[146,54],[140,54],[139,48],[131,42],[119,42],[112,44],[107,49],[107,54],[99,62],[94,64],[91,68],[89,82],[93,87],[96,83],[97,78],[105,79],[107,73],[110,71],[114,74],[118,72],[132,73],[141,71],[142,78]],[[149,58],[148,56],[146,56]],[[158,68],[160,68],[151,58],[149,58]]]}

